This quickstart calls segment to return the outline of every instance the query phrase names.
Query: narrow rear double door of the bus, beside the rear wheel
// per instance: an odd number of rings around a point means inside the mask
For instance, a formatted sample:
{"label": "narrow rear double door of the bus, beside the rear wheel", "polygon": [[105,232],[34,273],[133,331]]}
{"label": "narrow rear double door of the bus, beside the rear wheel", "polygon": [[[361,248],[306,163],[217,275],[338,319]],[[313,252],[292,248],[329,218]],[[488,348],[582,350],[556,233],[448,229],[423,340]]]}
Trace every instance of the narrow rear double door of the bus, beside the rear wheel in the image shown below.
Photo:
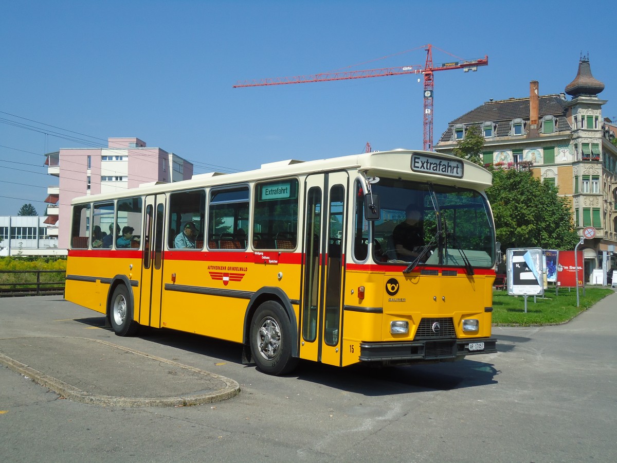
{"label": "narrow rear double door of the bus, beside the rear wheel", "polygon": [[139,324],[160,328],[165,195],[146,197]]}

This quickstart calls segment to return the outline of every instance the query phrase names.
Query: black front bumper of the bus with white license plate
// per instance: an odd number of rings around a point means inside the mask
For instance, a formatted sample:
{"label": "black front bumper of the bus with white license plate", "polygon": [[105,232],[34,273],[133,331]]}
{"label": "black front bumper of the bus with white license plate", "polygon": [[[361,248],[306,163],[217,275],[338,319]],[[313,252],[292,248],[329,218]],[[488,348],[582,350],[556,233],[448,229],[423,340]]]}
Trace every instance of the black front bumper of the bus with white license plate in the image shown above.
{"label": "black front bumper of the bus with white license plate", "polygon": [[447,361],[497,352],[495,338],[439,339],[400,343],[360,343],[361,362]]}

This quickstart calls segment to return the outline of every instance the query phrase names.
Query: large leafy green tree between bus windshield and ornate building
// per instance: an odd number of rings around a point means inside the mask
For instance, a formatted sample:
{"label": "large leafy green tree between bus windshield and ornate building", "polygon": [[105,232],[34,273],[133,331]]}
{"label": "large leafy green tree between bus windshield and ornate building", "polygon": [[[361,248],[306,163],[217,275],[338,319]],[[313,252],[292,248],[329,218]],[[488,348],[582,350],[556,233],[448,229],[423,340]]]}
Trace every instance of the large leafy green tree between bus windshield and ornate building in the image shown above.
{"label": "large leafy green tree between bus windshield and ornate building", "polygon": [[493,186],[486,190],[502,249],[574,249],[569,199],[558,189],[535,178],[528,170],[493,169]]}

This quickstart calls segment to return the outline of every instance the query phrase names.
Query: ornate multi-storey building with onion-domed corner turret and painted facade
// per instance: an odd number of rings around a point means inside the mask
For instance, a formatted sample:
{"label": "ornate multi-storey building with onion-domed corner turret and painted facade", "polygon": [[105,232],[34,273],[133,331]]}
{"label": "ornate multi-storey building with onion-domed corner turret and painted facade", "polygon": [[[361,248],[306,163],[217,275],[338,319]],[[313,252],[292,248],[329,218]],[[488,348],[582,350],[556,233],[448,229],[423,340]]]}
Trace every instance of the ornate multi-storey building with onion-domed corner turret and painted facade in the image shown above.
{"label": "ornate multi-storey building with onion-domed corner turret and painted facade", "polygon": [[486,164],[529,168],[557,186],[571,201],[579,235],[595,228],[595,238],[579,248],[590,283],[606,282],[617,254],[617,146],[611,143],[616,129],[602,117],[607,102],[598,98],[602,90],[589,57],[581,57],[565,93],[540,95],[538,82],[531,81],[528,98],[485,102],[450,122],[435,146],[451,154],[476,125],[484,135]]}

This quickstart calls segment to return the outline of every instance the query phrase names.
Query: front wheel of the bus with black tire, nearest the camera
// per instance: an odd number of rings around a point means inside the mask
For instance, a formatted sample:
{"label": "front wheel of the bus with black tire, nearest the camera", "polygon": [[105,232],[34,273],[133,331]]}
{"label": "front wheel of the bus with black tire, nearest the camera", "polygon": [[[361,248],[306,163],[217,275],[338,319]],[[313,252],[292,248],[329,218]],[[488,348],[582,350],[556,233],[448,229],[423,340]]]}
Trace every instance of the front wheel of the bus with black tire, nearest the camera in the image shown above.
{"label": "front wheel of the bus with black tire, nearest the camera", "polygon": [[291,323],[281,304],[263,302],[251,322],[251,354],[257,368],[269,375],[284,375],[296,368],[291,356]]}

